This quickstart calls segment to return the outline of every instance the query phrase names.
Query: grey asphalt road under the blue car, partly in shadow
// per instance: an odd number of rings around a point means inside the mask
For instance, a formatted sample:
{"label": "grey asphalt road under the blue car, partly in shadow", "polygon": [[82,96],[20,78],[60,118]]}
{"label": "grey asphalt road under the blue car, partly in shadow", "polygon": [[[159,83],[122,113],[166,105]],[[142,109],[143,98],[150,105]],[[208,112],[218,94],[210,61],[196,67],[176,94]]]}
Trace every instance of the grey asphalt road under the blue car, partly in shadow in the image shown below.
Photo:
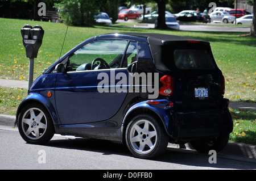
{"label": "grey asphalt road under the blue car, partly in shadow", "polygon": [[[225,158],[193,150],[167,148],[155,160],[134,158],[125,145],[56,134],[46,145],[27,144],[17,128],[0,126],[0,169],[85,170],[212,170],[256,169],[256,163]],[[102,172],[101,172],[102,173]],[[153,172],[154,174],[154,172]],[[166,173],[168,174],[168,172]],[[101,178],[102,175],[97,175]]]}

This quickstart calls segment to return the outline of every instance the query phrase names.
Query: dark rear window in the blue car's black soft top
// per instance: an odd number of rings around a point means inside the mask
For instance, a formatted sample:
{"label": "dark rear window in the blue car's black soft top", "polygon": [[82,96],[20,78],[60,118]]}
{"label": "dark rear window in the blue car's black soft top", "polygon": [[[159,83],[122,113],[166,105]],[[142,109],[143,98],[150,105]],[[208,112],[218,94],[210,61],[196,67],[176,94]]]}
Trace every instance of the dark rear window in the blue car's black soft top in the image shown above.
{"label": "dark rear window in the blue car's black soft top", "polygon": [[176,49],[174,62],[178,69],[183,70],[214,69],[213,58],[208,50],[204,49]]}

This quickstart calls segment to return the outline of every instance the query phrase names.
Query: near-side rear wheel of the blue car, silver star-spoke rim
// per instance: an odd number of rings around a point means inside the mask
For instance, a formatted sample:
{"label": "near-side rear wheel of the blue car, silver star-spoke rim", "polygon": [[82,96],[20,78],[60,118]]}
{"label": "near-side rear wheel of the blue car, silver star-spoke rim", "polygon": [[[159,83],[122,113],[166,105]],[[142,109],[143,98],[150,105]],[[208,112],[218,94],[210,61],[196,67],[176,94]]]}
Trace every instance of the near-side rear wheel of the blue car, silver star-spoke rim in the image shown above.
{"label": "near-side rear wheel of the blue car, silver star-spoke rim", "polygon": [[166,150],[168,140],[163,124],[154,116],[138,115],[127,125],[126,145],[135,157],[157,157]]}

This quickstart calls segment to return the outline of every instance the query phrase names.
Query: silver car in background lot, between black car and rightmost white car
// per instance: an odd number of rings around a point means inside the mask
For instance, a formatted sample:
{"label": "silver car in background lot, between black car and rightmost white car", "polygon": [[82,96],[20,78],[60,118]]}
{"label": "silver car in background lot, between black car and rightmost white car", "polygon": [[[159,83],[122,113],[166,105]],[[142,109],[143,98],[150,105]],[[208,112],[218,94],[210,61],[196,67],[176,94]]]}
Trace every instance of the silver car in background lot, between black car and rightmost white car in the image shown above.
{"label": "silver car in background lot, between black car and rightmost white car", "polygon": [[233,23],[236,17],[230,15],[228,11],[213,11],[210,14],[210,19],[214,23]]}

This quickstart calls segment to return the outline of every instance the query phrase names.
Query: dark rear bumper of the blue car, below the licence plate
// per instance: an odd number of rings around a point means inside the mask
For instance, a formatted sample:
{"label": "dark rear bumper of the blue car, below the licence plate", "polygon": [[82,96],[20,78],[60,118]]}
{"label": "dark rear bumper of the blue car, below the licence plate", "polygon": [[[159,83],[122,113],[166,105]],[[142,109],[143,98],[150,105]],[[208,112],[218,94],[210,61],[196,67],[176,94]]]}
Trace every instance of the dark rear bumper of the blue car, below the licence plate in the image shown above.
{"label": "dark rear bumper of the blue car, below the licence plate", "polygon": [[228,99],[224,99],[218,109],[198,111],[170,110],[167,132],[174,141],[190,141],[217,137],[233,131],[233,120],[228,109]]}

